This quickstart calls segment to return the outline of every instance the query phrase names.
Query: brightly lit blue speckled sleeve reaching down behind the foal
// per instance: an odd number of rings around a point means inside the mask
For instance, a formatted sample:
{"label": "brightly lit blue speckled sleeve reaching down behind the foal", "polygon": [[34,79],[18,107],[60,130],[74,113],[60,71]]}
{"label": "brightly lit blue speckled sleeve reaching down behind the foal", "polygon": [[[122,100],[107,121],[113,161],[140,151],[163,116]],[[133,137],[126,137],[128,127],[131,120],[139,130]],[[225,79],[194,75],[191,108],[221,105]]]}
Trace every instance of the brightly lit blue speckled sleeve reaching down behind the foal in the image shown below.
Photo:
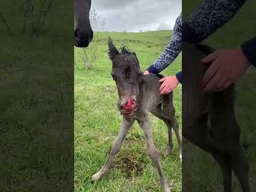
{"label": "brightly lit blue speckled sleeve reaching down behind the foal", "polygon": [[147,69],[149,73],[160,73],[166,67],[171,65],[171,63],[178,57],[181,52],[182,45],[182,14],[178,16],[175,21],[173,28],[173,36],[171,42],[166,46],[164,52],[160,57]]}

